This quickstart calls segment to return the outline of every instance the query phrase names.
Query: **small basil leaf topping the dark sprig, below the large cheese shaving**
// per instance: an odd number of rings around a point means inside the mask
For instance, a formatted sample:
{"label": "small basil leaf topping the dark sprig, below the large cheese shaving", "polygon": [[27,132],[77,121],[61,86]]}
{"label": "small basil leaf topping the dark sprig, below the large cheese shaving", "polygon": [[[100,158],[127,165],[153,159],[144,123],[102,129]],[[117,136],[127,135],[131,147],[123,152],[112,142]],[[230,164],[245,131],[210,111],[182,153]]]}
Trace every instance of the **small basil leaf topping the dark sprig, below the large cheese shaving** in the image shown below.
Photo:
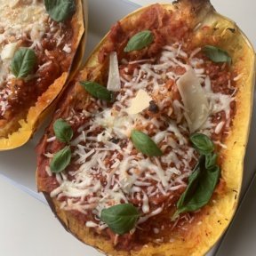
{"label": "small basil leaf topping the dark sprig, below the large cheese shaving", "polygon": [[191,140],[196,150],[202,155],[210,154],[214,150],[214,144],[212,140],[210,140],[209,137],[202,133],[194,133],[190,136],[189,139]]}

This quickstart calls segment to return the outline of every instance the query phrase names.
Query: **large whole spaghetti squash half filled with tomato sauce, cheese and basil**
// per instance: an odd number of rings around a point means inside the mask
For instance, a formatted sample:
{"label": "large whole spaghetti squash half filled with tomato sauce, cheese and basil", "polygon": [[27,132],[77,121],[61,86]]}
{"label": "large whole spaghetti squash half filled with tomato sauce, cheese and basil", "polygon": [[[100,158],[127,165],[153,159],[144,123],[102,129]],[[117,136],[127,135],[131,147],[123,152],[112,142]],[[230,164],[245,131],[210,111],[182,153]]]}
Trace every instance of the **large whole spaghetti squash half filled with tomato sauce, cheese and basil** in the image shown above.
{"label": "large whole spaghetti squash half filled with tomato sauce, cheese and basil", "polygon": [[236,211],[254,52],[209,1],[120,20],[37,146],[37,186],[108,255],[203,255]]}

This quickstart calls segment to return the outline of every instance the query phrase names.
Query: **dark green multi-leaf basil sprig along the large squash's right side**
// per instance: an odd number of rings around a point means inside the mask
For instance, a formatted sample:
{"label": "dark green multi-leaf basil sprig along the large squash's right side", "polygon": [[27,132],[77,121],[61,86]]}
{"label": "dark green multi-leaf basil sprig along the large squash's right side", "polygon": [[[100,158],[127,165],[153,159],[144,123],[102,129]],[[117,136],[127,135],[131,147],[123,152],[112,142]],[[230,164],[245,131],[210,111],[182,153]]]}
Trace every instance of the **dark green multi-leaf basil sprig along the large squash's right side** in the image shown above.
{"label": "dark green multi-leaf basil sprig along the large squash's right side", "polygon": [[182,212],[195,212],[208,204],[220,179],[220,167],[216,164],[217,155],[213,152],[212,140],[200,133],[191,135],[190,140],[201,156],[188,178],[186,190],[177,202],[177,211],[172,220]]}

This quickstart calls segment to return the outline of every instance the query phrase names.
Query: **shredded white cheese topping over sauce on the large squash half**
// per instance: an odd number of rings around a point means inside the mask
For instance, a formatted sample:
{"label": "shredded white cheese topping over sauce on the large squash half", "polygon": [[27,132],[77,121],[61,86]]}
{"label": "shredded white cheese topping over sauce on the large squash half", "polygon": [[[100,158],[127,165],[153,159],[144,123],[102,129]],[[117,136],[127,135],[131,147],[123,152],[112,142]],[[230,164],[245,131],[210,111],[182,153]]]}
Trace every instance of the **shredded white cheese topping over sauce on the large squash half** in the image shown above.
{"label": "shredded white cheese topping over sauce on the large squash half", "polygon": [[[216,145],[222,145],[219,135],[228,131],[234,111],[233,81],[227,80],[232,93],[216,92],[200,52],[200,48],[185,52],[182,44],[172,44],[164,46],[156,59],[122,60],[121,88],[112,106],[91,97],[83,113],[71,111],[69,124],[84,121],[71,141],[72,164],[68,172],[56,174],[59,186],[51,193],[63,210],[91,212],[94,219],[87,220],[86,226],[104,229],[108,226],[99,219],[102,209],[132,203],[142,213],[140,228],[177,202],[198,160],[188,141],[189,120],[197,124],[193,132],[211,136]],[[185,90],[191,76],[197,88],[193,92]],[[177,85],[180,81],[185,88],[182,92]],[[204,102],[204,109],[193,108],[191,116],[181,94],[190,97],[188,105]],[[131,140],[134,129],[148,134],[163,156],[138,152]],[[52,154],[46,156],[52,158]],[[52,176],[49,166],[46,169]]]}

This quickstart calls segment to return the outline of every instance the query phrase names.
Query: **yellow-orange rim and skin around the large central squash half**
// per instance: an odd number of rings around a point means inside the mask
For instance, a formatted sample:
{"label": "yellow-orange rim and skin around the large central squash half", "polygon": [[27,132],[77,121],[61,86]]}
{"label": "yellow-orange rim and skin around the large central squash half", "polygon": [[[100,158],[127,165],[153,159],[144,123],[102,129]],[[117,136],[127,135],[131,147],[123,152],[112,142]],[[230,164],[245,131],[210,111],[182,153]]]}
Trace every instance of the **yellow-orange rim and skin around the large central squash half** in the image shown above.
{"label": "yellow-orange rim and skin around the large central squash half", "polygon": [[[221,177],[225,180],[227,188],[224,194],[216,196],[215,204],[209,205],[209,207],[204,210],[201,225],[196,225],[186,231],[185,236],[177,236],[173,242],[163,243],[160,246],[147,244],[147,246],[140,248],[139,251],[131,252],[116,251],[114,246],[109,243],[108,239],[93,235],[92,231],[90,231],[89,228],[82,227],[70,212],[62,211],[60,209],[60,203],[57,200],[52,199],[49,194],[44,193],[52,211],[69,232],[85,244],[89,244],[107,255],[204,255],[218,241],[226,228],[228,228],[228,224],[236,212],[240,195],[243,180],[244,154],[252,117],[255,70],[255,54],[252,44],[250,44],[246,36],[244,36],[243,32],[232,20],[228,20],[217,13],[213,9],[212,4],[207,0],[180,0],[180,2],[174,6],[172,4],[163,4],[162,6],[167,10],[183,8],[183,10],[185,10],[184,12],[195,12],[197,17],[195,26],[198,23],[202,24],[195,29],[195,42],[199,44],[207,37],[207,33],[213,34],[212,38],[219,40],[220,45],[232,56],[233,67],[239,70],[239,73],[244,74],[243,78],[237,82],[239,90],[236,94],[236,116],[233,119],[232,132],[230,132],[225,141],[228,149],[220,152],[223,157]],[[127,20],[135,19],[145,8],[147,7],[132,12],[120,22],[123,24],[126,23]],[[200,29],[203,26],[208,26],[210,29],[207,31]],[[216,26],[218,26],[218,29],[215,29]],[[235,33],[227,28],[235,28]],[[82,70],[80,77],[86,77],[86,68],[100,69],[97,56],[102,45],[107,43],[108,35],[103,38],[94,52],[92,52],[91,57],[85,63],[84,70]],[[93,77],[95,79],[100,76],[100,72],[96,72],[95,74],[95,77]],[[72,90],[72,88],[70,88],[70,90]],[[44,192],[44,188],[41,187],[41,180],[38,176],[37,184],[38,189]]]}

